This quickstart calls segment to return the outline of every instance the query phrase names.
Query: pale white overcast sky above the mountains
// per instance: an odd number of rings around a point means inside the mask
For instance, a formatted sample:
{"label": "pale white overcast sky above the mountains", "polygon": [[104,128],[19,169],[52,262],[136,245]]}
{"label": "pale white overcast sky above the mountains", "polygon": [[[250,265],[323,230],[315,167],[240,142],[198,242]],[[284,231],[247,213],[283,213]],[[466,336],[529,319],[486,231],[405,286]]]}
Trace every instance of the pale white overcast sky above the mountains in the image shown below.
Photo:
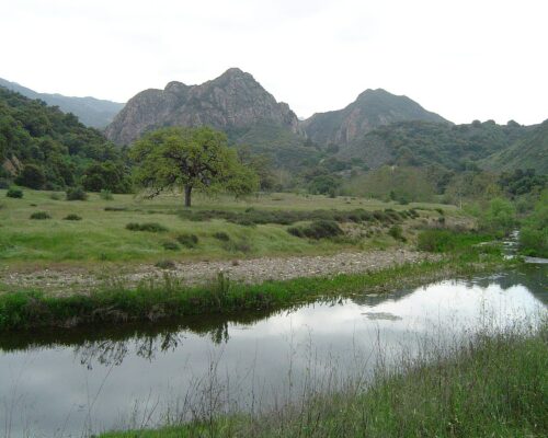
{"label": "pale white overcast sky above the mountains", "polygon": [[0,77],[125,102],[239,67],[299,117],[365,89],[456,123],[548,118],[547,0],[0,0]]}

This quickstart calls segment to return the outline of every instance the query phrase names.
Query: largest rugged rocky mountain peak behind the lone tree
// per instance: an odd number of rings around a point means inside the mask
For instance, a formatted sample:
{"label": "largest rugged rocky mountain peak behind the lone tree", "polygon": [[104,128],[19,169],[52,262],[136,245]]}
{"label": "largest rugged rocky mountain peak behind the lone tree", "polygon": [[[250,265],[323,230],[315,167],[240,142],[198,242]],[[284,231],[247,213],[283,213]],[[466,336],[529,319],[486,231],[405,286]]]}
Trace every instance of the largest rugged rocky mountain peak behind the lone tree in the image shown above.
{"label": "largest rugged rocky mountain peak behind the lone tree", "polygon": [[134,96],[106,128],[106,137],[128,145],[144,132],[162,126],[210,125],[227,132],[271,124],[299,132],[295,113],[278,103],[253,77],[237,68],[201,85],[170,82],[164,90]]}

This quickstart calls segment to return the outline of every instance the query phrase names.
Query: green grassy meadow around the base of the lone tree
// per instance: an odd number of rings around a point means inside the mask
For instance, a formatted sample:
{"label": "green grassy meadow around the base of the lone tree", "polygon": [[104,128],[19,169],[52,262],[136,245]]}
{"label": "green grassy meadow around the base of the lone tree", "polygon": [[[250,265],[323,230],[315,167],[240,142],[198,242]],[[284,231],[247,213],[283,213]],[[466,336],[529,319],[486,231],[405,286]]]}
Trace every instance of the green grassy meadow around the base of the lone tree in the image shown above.
{"label": "green grassy meadow around the base of the lone tree", "polygon": [[[93,262],[155,262],[170,260],[207,260],[256,257],[265,255],[319,254],[347,249],[386,247],[400,244],[385,232],[376,232],[370,239],[317,240],[299,239],[287,232],[287,226],[264,223],[244,226],[222,219],[193,221],[181,217],[184,211],[182,196],[162,195],[142,199],[133,195],[114,195],[114,199],[101,199],[99,194],[89,194],[88,200],[65,200],[64,193],[24,189],[21,199],[9,198],[7,191],[0,191],[0,260],[12,265]],[[272,194],[233,200],[228,197],[207,198],[196,196],[193,211],[222,210],[244,212],[258,210],[353,210],[369,211],[421,209],[422,220],[439,217],[435,208],[443,208],[445,217],[458,217],[453,206],[411,204],[400,206],[378,200],[323,196],[300,196]],[[111,210],[105,211],[105,208]],[[31,215],[45,211],[50,219],[33,220]],[[78,215],[81,220],[64,220],[68,215]],[[129,222],[156,222],[167,229],[164,232],[129,231]],[[386,228],[386,227],[385,227]],[[225,232],[229,241],[221,241],[215,233]],[[198,243],[194,247],[176,245],[181,233],[195,234]]]}

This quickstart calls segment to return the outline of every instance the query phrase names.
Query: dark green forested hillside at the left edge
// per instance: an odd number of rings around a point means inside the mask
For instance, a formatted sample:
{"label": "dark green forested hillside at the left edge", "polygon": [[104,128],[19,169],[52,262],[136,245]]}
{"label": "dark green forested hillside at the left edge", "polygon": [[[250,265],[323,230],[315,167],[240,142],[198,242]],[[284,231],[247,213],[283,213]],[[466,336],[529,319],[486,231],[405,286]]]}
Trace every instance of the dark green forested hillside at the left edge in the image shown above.
{"label": "dark green forested hillside at the left edge", "polygon": [[0,87],[0,183],[59,189],[128,189],[123,151],[45,102]]}

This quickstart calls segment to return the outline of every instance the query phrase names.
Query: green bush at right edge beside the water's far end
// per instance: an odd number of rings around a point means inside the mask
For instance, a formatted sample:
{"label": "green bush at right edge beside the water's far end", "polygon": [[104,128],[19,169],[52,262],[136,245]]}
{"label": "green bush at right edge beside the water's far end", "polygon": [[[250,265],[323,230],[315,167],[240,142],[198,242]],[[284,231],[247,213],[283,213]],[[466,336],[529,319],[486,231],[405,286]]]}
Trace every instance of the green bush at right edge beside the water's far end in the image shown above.
{"label": "green bush at right edge beside the water's far end", "polygon": [[527,255],[548,257],[548,191],[543,194],[525,221],[520,233],[520,245]]}

